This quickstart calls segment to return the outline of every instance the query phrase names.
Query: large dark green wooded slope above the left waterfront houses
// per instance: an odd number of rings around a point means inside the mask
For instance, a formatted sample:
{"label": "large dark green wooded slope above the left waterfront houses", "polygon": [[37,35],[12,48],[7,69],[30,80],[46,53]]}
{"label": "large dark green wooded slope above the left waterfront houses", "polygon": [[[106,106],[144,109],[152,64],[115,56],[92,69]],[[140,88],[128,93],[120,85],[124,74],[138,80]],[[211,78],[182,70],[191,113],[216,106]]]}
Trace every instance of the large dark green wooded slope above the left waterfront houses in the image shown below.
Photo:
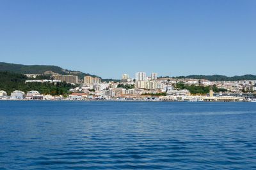
{"label": "large dark green wooded slope above the left waterfront houses", "polygon": [[69,83],[25,83],[28,77],[24,74],[10,73],[7,71],[0,72],[0,90],[4,90],[11,94],[14,90],[21,90],[28,92],[30,90],[37,90],[41,94],[63,95],[69,94],[68,89],[75,86]]}

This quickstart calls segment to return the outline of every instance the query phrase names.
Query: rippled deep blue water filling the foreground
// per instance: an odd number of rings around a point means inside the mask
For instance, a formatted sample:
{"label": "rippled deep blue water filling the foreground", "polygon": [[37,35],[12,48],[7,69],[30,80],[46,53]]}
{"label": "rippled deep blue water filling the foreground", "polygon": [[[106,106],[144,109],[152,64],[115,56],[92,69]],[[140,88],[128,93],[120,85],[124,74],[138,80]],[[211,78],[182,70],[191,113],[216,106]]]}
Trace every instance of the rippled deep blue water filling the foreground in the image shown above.
{"label": "rippled deep blue water filling the foreground", "polygon": [[256,169],[256,103],[0,101],[0,169]]}

